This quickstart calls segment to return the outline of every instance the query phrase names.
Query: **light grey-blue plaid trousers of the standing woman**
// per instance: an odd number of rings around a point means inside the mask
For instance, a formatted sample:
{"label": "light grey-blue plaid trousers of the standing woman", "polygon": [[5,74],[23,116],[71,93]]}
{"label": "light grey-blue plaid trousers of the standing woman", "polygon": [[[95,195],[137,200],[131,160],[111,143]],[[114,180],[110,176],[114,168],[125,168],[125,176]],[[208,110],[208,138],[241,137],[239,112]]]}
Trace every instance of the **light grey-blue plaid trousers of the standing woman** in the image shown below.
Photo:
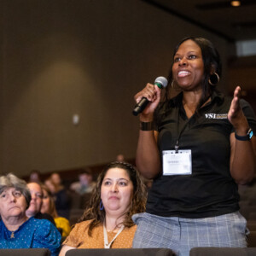
{"label": "light grey-blue plaid trousers of the standing woman", "polygon": [[139,213],[134,248],[170,248],[179,256],[189,256],[193,247],[247,247],[247,221],[240,212],[212,218],[160,217]]}

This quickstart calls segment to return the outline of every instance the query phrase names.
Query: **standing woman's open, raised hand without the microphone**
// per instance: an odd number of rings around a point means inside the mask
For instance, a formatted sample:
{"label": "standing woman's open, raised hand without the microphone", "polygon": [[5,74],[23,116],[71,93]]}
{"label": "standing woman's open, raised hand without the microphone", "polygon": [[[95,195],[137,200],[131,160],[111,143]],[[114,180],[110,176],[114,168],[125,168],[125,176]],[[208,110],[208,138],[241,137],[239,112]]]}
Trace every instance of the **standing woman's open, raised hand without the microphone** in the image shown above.
{"label": "standing woman's open, raised hand without the microphone", "polygon": [[247,133],[249,125],[240,107],[240,103],[239,103],[240,96],[241,96],[241,87],[237,86],[236,90],[234,91],[234,97],[230,105],[228,119],[231,125],[234,126],[236,133],[238,135],[240,135],[241,133],[241,136],[242,136]]}

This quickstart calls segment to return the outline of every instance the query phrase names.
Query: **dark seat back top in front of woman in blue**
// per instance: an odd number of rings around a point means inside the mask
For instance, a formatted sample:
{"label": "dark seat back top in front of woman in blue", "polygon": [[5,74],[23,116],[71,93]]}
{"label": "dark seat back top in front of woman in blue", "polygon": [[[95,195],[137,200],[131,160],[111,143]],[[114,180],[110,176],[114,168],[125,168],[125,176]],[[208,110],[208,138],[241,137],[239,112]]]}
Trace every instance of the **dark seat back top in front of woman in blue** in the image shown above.
{"label": "dark seat back top in front of woman in blue", "polygon": [[0,249],[1,256],[50,256],[49,249],[27,248],[27,249]]}

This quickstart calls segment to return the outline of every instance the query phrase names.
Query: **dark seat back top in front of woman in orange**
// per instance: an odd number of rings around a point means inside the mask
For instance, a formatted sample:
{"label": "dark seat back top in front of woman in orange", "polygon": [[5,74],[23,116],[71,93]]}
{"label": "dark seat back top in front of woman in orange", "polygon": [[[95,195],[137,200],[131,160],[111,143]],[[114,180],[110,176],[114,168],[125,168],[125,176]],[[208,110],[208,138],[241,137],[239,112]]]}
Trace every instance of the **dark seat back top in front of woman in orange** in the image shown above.
{"label": "dark seat back top in front of woman in orange", "polygon": [[69,250],[65,256],[174,256],[167,248],[142,249],[78,249]]}

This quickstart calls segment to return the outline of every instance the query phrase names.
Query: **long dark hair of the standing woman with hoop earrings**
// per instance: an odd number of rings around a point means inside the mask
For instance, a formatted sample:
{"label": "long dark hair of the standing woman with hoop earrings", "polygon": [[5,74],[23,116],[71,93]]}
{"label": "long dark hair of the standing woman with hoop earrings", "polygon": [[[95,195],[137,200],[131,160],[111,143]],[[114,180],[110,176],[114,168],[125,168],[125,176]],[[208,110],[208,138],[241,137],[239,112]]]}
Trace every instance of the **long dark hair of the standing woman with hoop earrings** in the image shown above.
{"label": "long dark hair of the standing woman with hoop earrings", "polygon": [[[201,101],[197,106],[197,110],[198,110],[207,101],[208,96],[212,96],[212,92],[214,90],[217,90],[216,86],[209,85],[208,80],[212,76],[211,75],[212,67],[214,68],[214,72],[218,73],[219,78],[221,77],[222,63],[220,60],[220,56],[218,54],[218,50],[214,47],[212,42],[207,38],[200,38],[200,37],[183,38],[174,49],[173,56],[176,55],[177,49],[180,47],[180,45],[187,40],[194,41],[195,44],[197,44],[200,47],[202,60],[204,62],[204,77],[201,82],[203,93],[201,96]],[[170,96],[170,90],[172,88],[171,85],[172,85],[172,68],[168,76],[168,85],[166,87],[166,94],[165,94],[166,101],[168,101]]]}

